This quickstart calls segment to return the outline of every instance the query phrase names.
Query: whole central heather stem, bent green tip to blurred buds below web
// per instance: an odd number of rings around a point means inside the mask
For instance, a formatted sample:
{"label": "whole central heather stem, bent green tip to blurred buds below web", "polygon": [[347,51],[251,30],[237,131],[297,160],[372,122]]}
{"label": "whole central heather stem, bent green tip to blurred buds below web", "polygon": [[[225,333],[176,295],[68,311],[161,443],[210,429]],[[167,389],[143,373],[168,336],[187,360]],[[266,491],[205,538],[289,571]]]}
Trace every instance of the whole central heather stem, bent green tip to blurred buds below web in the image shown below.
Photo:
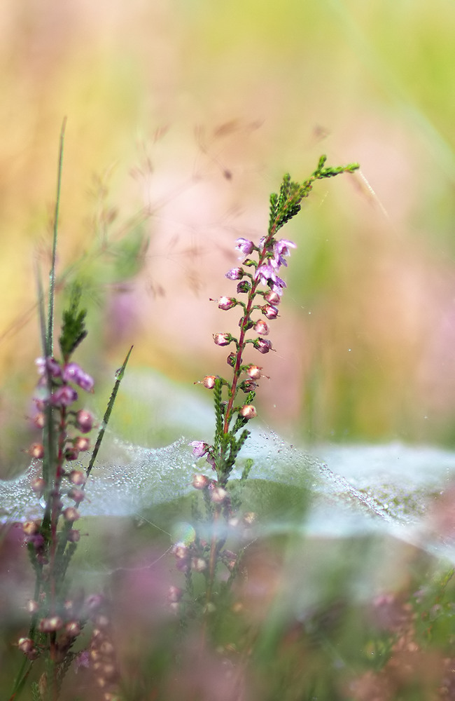
{"label": "whole central heather stem, bent green tip to blurred buds below web", "polygon": [[[253,362],[244,362],[244,353],[265,355],[273,351],[272,341],[264,336],[269,336],[271,324],[279,315],[278,305],[281,302],[283,291],[286,290],[286,282],[281,277],[281,268],[288,265],[290,252],[296,248],[295,243],[286,238],[277,238],[276,234],[281,227],[294,217],[300,210],[302,200],[307,197],[318,179],[332,177],[342,172],[353,172],[358,168],[356,163],[340,168],[325,168],[325,156],[321,157],[318,168],[303,183],[292,182],[289,175],[283,178],[279,193],[270,197],[269,227],[266,236],[262,236],[258,245],[246,238],[238,238],[235,249],[241,254],[241,264],[231,268],[225,277],[232,282],[237,282],[236,294],[246,297],[237,299],[234,295],[223,295],[218,299],[218,307],[230,312],[233,308],[240,308],[239,335],[232,336],[229,332],[214,334],[216,346],[229,346],[235,344],[227,358],[227,365],[232,369],[230,379],[224,379],[216,375],[208,375],[202,381],[205,387],[214,392],[215,404],[215,435],[212,445],[203,441],[193,441],[193,455],[196,458],[206,457],[216,473],[216,479],[209,479],[202,474],[194,475],[193,487],[202,492],[204,504],[207,510],[206,522],[214,524],[214,533],[211,543],[207,544],[203,538],[195,538],[193,543],[181,549],[174,550],[176,567],[184,572],[187,578],[188,592],[193,598],[191,577],[194,573],[204,573],[207,582],[207,592],[204,601],[203,614],[207,615],[214,608],[211,601],[214,579],[218,563],[224,564],[232,580],[239,557],[230,550],[225,550],[225,536],[220,533],[220,519],[224,519],[225,528],[238,524],[239,518],[236,510],[239,507],[239,498],[236,496],[232,502],[228,481],[235,467],[237,456],[241,447],[248,438],[249,431],[245,428],[248,421],[257,416],[253,404],[255,390],[262,376],[262,367]],[[267,319],[267,322],[265,321]],[[237,394],[241,390],[244,393],[241,402],[237,400]],[[253,461],[246,461],[240,482],[244,482],[251,470]],[[253,515],[250,515],[253,519]],[[246,523],[244,517],[244,522]],[[209,548],[207,567],[207,548]],[[207,567],[207,569],[206,569]]]}

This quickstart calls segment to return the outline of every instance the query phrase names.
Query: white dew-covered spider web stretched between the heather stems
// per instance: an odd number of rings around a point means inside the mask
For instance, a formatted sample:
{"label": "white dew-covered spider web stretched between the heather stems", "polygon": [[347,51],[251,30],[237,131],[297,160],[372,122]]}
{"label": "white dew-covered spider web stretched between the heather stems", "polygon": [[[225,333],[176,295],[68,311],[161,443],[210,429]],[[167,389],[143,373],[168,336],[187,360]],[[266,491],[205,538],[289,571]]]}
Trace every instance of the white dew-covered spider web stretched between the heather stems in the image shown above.
{"label": "white dew-covered spider web stretched between the heather stems", "polygon": [[[141,447],[108,437],[109,449],[95,465],[86,485],[81,515],[141,515],[160,503],[190,494],[195,472],[211,476],[204,459],[195,462],[181,437],[161,448]],[[108,458],[109,456],[109,458]],[[414,543],[455,562],[453,526],[438,531],[440,499],[455,484],[455,454],[432,447],[403,444],[320,446],[311,454],[272,432],[253,430],[232,478],[239,479],[246,458],[253,459],[248,477],[253,501],[265,501],[277,485],[290,494],[309,494],[302,500],[302,518],[279,517],[262,522],[263,533],[293,529],[326,537],[363,536],[383,532]],[[22,520],[42,515],[30,489],[39,470],[0,482],[1,517]],[[446,503],[448,511],[455,508]],[[446,519],[447,522],[447,519]],[[260,526],[261,527],[261,526]]]}

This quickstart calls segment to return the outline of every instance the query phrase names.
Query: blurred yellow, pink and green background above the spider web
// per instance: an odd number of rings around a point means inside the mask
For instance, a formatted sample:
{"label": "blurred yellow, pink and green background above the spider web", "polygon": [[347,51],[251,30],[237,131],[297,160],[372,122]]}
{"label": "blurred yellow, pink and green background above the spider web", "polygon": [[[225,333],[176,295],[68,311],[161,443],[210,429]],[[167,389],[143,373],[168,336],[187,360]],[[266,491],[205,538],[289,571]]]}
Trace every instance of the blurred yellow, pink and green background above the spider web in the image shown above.
{"label": "blurred yellow, pink and green background above the spider web", "polygon": [[[454,445],[454,27],[445,0],[3,0],[3,473],[27,446],[64,116],[59,300],[83,280],[100,386],[132,343],[180,409],[179,388],[225,374],[211,334],[237,313],[209,298],[234,290],[235,238],[260,238],[283,173],[326,153],[361,171],[319,183],[283,233],[298,248],[276,353],[253,358],[260,416],[308,444]],[[134,440],[147,401],[120,402]]]}

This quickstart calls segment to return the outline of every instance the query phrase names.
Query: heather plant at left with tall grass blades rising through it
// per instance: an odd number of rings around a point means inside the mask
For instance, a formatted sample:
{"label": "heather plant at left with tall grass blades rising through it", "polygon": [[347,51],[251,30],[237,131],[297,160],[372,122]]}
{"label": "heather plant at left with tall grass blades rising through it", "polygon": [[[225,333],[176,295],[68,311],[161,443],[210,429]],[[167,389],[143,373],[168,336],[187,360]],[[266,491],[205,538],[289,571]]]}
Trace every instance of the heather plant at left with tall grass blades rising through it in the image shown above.
{"label": "heather plant at left with tall grass blades rising through it", "polygon": [[[40,672],[38,679],[30,683],[32,699],[57,700],[71,664],[86,665],[89,655],[92,655],[92,661],[96,658],[98,662],[98,678],[104,682],[106,699],[116,681],[104,597],[80,590],[71,592],[67,573],[80,540],[77,524],[79,506],[85,499],[85,483],[97,457],[131,349],[118,370],[87,468],[74,467],[78,465],[80,454],[90,451],[89,436],[94,429],[94,416],[80,406],[78,393],[80,390],[92,393],[94,380],[73,360],[73,353],[87,336],[86,310],[80,308],[81,290],[77,284],[71,287],[69,304],[63,313],[58,355],[53,342],[64,126],[59,149],[47,318],[38,278],[43,357],[36,360],[39,380],[34,394],[33,421],[36,428],[42,430],[42,442],[35,442],[28,449],[34,461],[41,461],[41,474],[32,480],[30,486],[43,507],[43,517],[22,524],[35,585],[33,597],[27,602],[29,631],[17,643],[24,662],[13,684],[11,700],[19,697],[30,676],[36,676],[31,675],[35,667],[39,667]],[[87,623],[91,623],[92,632],[91,637],[84,639]]]}

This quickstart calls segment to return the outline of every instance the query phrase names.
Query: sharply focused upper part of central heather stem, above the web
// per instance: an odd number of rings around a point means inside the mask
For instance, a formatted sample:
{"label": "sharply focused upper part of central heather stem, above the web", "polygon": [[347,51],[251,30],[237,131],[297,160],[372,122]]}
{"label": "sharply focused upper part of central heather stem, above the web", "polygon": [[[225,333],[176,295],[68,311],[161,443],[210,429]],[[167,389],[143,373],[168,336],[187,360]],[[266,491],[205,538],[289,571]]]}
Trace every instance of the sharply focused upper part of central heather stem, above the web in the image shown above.
{"label": "sharply focused upper part of central heather stem, above the web", "polygon": [[[218,307],[223,311],[241,306],[239,319],[239,336],[235,338],[228,332],[214,334],[214,342],[217,346],[228,346],[235,343],[236,349],[228,355],[228,365],[232,367],[232,379],[214,377],[214,399],[216,413],[216,432],[214,444],[193,442],[193,453],[197,455],[209,454],[218,475],[221,486],[227,484],[230,472],[235,465],[235,460],[241,446],[248,437],[245,424],[255,418],[256,411],[253,407],[255,388],[260,379],[260,368],[254,365],[244,365],[243,355],[248,345],[265,355],[273,351],[272,341],[263,336],[268,336],[271,329],[269,324],[278,317],[277,305],[281,301],[286,282],[281,278],[281,268],[288,265],[287,258],[290,252],[296,248],[295,243],[286,238],[277,238],[276,234],[297,212],[300,211],[302,200],[309,196],[314,182],[339,175],[343,172],[353,172],[358,168],[357,163],[351,163],[337,168],[325,167],[325,156],[321,156],[318,167],[314,173],[302,183],[293,182],[289,175],[283,177],[279,193],[270,196],[269,227],[266,236],[262,236],[257,245],[247,238],[237,238],[235,249],[241,254],[243,261],[239,266],[231,268],[226,274],[228,280],[240,280],[237,284],[237,294],[246,294],[246,301],[239,301],[235,297],[225,295],[218,300]],[[249,272],[248,268],[253,268]],[[245,279],[243,279],[245,278]],[[265,304],[258,304],[257,298]],[[250,332],[259,334],[251,338]],[[246,376],[243,376],[246,374]],[[226,388],[226,396],[223,398],[223,387]],[[239,389],[247,392],[246,402],[241,407],[236,407],[236,397]],[[239,433],[240,432],[240,433]]]}

